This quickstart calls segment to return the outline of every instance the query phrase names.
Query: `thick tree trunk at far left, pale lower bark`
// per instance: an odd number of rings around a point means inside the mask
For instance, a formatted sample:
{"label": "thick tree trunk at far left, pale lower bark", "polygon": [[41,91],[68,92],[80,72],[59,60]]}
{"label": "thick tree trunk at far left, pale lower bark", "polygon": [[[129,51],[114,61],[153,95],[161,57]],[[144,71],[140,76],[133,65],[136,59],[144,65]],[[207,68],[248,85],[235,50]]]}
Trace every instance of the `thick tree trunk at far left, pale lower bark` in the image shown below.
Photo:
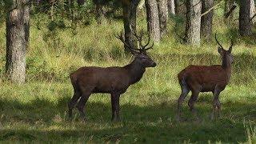
{"label": "thick tree trunk at far left, pale lower bark", "polygon": [[30,35],[29,0],[13,0],[6,15],[6,75],[22,84],[26,77],[26,48]]}

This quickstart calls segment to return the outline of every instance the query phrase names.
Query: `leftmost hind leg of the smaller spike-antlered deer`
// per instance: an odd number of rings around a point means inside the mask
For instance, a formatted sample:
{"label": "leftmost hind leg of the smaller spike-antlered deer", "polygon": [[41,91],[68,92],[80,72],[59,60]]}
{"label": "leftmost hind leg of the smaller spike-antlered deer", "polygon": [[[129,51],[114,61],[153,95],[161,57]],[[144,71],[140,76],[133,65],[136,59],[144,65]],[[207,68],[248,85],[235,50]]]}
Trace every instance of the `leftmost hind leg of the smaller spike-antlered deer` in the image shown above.
{"label": "leftmost hind leg of the smaller spike-antlered deer", "polygon": [[182,102],[184,102],[184,99],[186,98],[187,94],[189,94],[189,92],[190,92],[190,89],[186,85],[186,82],[184,80],[182,80],[182,82],[180,82],[180,86],[182,88],[182,94],[178,98],[178,115],[177,115],[178,121],[180,120],[180,117],[182,115]]}

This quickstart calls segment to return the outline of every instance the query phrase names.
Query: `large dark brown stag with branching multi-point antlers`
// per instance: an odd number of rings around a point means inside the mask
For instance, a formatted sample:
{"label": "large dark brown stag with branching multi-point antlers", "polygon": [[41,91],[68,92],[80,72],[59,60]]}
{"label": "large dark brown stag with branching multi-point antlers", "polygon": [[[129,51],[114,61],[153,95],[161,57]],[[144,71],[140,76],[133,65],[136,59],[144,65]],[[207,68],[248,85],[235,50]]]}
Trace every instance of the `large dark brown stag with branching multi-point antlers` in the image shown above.
{"label": "large dark brown stag with branching multi-point antlers", "polygon": [[70,74],[70,79],[74,87],[74,96],[68,103],[70,118],[72,118],[72,110],[79,98],[80,100],[76,107],[78,108],[81,117],[85,118],[83,109],[90,94],[106,93],[111,94],[112,121],[120,121],[120,94],[125,93],[130,85],[138,82],[142,78],[142,75],[146,71],[146,67],[154,67],[157,65],[154,60],[146,54],[146,50],[149,50],[154,46],[154,43],[152,46],[149,46],[150,35],[148,35],[148,42],[146,45],[142,45],[143,33],[139,35],[134,34],[134,36],[138,40],[139,49],[132,47],[130,43],[126,43],[122,32],[120,35],[115,35],[116,38],[123,42],[130,53],[134,55],[134,61],[130,64],[123,67],[113,66],[106,68],[85,66]]}

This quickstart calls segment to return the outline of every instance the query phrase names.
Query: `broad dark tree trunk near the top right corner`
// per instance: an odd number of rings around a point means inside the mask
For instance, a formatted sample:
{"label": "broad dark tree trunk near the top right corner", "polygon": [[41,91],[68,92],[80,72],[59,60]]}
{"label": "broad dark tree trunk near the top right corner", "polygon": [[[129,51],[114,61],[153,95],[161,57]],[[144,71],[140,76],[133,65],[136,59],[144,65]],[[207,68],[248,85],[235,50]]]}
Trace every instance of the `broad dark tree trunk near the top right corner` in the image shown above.
{"label": "broad dark tree trunk near the top right corner", "polygon": [[250,21],[250,0],[240,1],[239,33],[242,36],[252,34],[252,22]]}

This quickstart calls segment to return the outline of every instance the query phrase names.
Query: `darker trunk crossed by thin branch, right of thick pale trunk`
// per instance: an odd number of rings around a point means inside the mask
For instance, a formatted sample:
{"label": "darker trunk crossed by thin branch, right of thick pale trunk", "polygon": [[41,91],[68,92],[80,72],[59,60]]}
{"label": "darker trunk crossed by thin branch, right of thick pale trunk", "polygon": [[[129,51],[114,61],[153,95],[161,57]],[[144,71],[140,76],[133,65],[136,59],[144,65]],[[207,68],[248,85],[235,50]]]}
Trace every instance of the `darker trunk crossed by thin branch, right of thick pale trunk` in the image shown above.
{"label": "darker trunk crossed by thin branch, right of thick pale trunk", "polygon": [[[214,0],[202,0],[202,14],[214,6]],[[201,19],[201,38],[206,39],[206,41],[211,40],[212,35],[212,25],[213,25],[214,10],[210,12]]]}

